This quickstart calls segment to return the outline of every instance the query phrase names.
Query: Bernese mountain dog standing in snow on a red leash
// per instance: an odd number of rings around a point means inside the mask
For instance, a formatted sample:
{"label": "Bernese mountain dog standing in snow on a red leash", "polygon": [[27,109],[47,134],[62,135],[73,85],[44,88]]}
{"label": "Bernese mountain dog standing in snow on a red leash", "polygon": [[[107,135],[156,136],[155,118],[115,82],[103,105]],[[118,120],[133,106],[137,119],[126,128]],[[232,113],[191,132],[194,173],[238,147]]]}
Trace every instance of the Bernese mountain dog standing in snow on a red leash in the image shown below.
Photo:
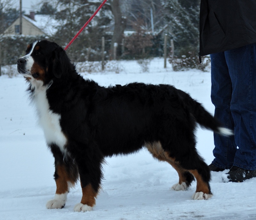
{"label": "Bernese mountain dog standing in snow on a red leash", "polygon": [[75,211],[90,211],[100,190],[104,158],[145,147],[179,174],[174,190],[196,178],[193,199],[212,196],[210,170],[196,151],[196,123],[222,135],[222,127],[187,93],[171,85],[130,83],[102,87],[76,72],[63,48],[47,40],[28,45],[18,72],[29,82],[39,124],[55,159],[56,193],[48,209],[65,206],[78,178],[81,202]]}

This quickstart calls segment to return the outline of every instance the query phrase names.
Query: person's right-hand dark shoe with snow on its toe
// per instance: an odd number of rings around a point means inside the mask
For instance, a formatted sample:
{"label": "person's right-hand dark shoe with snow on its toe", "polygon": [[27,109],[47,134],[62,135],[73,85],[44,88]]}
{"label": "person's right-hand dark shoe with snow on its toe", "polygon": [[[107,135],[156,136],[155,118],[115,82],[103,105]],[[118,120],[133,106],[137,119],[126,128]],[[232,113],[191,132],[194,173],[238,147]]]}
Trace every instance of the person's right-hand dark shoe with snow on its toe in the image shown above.
{"label": "person's right-hand dark shoe with snow on its toe", "polygon": [[240,167],[232,166],[228,173],[222,174],[222,181],[240,183],[252,177],[256,177],[256,170],[245,170]]}

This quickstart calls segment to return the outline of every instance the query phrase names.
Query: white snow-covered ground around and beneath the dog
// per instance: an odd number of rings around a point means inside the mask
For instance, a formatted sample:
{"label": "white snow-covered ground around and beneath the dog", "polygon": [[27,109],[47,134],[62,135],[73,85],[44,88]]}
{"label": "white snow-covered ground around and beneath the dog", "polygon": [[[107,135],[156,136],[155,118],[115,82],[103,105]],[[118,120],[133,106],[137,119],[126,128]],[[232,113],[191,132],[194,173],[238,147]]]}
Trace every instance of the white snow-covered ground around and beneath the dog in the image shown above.
{"label": "white snow-covered ground around and beneath the dog", "polygon": [[[163,68],[162,59],[153,59],[150,71],[142,73],[136,61],[118,62],[119,74],[84,74],[100,85],[129,82],[166,83],[187,91],[213,113],[210,100],[210,72],[173,72]],[[0,77],[0,219],[7,220],[171,220],[171,219],[256,219],[256,178],[243,183],[223,183],[222,173],[212,172],[209,200],[191,200],[196,183],[187,191],[173,191],[177,172],[146,151],[129,156],[106,158],[105,180],[91,212],[74,212],[80,202],[80,184],[68,194],[64,209],[46,209],[55,193],[54,161],[42,130],[36,124],[33,105],[21,76]],[[213,134],[198,128],[197,149],[211,163]]]}

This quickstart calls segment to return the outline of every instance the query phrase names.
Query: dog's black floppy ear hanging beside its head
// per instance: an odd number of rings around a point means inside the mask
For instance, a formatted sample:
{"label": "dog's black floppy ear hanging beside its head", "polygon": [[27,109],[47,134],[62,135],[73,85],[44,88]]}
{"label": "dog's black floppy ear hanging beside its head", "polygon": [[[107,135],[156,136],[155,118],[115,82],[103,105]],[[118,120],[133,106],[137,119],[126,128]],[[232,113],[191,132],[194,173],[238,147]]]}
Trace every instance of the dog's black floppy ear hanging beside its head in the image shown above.
{"label": "dog's black floppy ear hanging beside its head", "polygon": [[69,71],[69,65],[70,65],[70,60],[65,52],[64,49],[61,47],[57,47],[53,52],[52,52],[52,72],[53,75],[56,78],[59,78],[63,75],[68,73]]}

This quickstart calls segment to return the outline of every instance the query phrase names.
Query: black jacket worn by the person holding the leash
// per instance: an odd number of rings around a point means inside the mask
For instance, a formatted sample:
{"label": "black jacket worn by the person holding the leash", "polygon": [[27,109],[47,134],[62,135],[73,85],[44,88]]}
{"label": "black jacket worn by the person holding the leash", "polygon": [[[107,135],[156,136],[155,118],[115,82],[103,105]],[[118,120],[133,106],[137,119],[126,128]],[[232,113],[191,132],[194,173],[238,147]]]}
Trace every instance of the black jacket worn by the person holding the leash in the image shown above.
{"label": "black jacket worn by the person holding the leash", "polygon": [[200,55],[256,43],[256,0],[201,0]]}

